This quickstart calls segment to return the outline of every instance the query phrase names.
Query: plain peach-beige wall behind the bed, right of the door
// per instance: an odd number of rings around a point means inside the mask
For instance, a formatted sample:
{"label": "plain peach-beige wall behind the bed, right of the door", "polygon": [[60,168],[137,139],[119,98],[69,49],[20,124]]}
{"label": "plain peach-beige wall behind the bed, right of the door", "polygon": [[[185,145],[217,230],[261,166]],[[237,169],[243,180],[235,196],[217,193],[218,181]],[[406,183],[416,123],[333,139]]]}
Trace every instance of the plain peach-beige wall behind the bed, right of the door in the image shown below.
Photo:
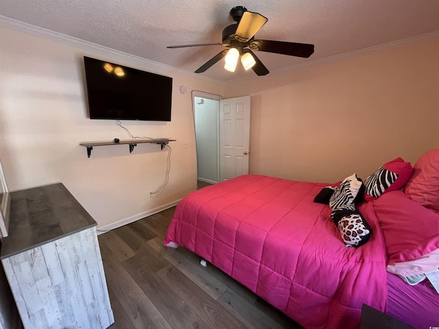
{"label": "plain peach-beige wall behind the bed, right of the door", "polygon": [[[318,47],[316,47],[318,51]],[[225,87],[251,95],[250,172],[366,179],[439,147],[439,38]]]}

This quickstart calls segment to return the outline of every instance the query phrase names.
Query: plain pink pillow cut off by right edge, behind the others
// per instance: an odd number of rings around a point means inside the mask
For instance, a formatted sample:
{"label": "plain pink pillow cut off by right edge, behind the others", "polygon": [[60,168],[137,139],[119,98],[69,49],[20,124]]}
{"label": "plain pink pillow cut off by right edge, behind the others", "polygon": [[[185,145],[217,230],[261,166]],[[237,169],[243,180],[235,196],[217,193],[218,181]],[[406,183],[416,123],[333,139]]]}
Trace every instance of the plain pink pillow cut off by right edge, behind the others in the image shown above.
{"label": "plain pink pillow cut off by right edge, behind the others", "polygon": [[439,149],[423,154],[404,188],[410,199],[439,212]]}

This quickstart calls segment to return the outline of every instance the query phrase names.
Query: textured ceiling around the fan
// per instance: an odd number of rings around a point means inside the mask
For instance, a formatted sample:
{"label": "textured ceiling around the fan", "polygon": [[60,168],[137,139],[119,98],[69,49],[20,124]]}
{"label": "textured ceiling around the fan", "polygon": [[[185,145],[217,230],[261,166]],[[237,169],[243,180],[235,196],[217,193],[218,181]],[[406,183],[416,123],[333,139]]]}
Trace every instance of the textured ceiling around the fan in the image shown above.
{"label": "textured ceiling around the fan", "polygon": [[[236,5],[268,18],[257,38],[315,45],[307,59],[258,51],[270,71],[439,31],[438,0],[1,0],[0,14],[193,72],[224,47],[166,46],[221,42]],[[222,62],[201,74],[254,75]]]}

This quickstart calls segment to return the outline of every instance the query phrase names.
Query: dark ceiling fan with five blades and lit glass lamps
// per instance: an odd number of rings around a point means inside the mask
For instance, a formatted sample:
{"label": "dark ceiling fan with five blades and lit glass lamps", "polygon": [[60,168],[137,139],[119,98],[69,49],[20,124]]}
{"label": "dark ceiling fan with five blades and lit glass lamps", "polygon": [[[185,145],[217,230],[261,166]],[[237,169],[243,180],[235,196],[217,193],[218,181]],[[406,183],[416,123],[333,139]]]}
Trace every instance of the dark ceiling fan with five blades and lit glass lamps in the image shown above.
{"label": "dark ceiling fan with five blades and lit glass lamps", "polygon": [[306,43],[261,40],[255,39],[256,34],[268,19],[257,12],[249,12],[245,7],[239,5],[230,10],[230,16],[233,21],[237,22],[228,25],[222,32],[222,42],[201,43],[195,45],[177,45],[168,46],[167,48],[184,48],[221,45],[228,47],[213,56],[203,64],[195,73],[202,73],[209,69],[213,64],[226,57],[224,69],[235,71],[239,57],[244,69],[252,69],[257,75],[266,75],[270,73],[262,62],[254,55],[253,51],[267,51],[269,53],[281,53],[289,56],[298,56],[309,58],[314,52],[314,45]]}

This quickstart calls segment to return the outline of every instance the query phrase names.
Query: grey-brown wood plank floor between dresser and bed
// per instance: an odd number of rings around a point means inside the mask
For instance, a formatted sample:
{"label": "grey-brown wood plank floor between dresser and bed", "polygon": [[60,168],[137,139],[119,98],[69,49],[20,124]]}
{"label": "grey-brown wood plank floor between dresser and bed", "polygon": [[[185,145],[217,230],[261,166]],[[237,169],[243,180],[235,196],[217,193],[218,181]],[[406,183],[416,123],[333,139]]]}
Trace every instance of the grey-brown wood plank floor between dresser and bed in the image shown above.
{"label": "grey-brown wood plank floor between dresser and bed", "polygon": [[189,250],[164,247],[174,210],[99,235],[110,328],[302,328]]}

